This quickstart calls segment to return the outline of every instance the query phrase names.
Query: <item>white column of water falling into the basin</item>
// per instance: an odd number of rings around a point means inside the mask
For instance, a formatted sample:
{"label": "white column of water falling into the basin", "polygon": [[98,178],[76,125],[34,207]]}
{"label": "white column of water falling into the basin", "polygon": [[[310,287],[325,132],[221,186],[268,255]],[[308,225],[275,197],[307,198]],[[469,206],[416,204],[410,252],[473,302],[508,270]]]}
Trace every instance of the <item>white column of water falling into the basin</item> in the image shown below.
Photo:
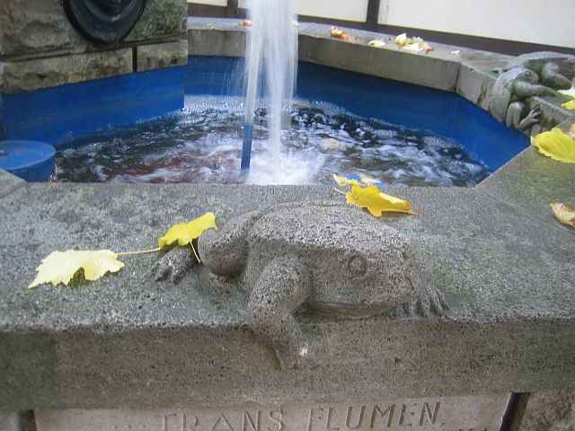
{"label": "white column of water falling into the basin", "polygon": [[[248,182],[278,184],[285,182],[283,172],[297,172],[301,182],[312,173],[302,160],[296,159],[282,145],[289,127],[291,103],[297,75],[296,2],[294,0],[250,0],[248,15],[252,26],[248,31],[246,52],[246,110],[244,133],[252,140],[254,112],[257,102],[266,107],[269,142],[268,161],[258,163],[250,170]],[[247,137],[246,137],[247,136]],[[293,176],[293,175],[292,175]]]}

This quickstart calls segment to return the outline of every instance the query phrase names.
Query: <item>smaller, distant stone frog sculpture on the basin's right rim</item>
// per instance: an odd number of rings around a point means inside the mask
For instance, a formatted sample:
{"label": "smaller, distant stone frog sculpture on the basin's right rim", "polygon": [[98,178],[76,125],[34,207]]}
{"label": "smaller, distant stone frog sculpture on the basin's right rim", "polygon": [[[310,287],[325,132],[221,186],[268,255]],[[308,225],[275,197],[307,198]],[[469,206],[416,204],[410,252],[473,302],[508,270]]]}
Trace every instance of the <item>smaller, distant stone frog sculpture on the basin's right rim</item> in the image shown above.
{"label": "smaller, distant stone frog sculpture on the basin's right rim", "polygon": [[526,130],[539,121],[540,110],[529,110],[526,99],[553,96],[555,90],[568,89],[575,77],[575,56],[554,52],[524,54],[494,72],[489,110],[508,127]]}

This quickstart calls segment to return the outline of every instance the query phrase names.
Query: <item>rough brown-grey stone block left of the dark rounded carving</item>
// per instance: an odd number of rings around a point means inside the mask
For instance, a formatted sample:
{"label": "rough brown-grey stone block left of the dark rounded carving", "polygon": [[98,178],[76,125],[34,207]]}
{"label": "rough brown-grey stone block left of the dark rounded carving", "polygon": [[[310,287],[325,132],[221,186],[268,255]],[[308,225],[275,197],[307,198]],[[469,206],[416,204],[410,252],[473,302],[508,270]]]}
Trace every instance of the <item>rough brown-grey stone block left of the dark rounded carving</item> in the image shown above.
{"label": "rough brown-grey stone block left of the dark rounded carving", "polygon": [[0,58],[82,52],[86,47],[59,0],[0,2]]}

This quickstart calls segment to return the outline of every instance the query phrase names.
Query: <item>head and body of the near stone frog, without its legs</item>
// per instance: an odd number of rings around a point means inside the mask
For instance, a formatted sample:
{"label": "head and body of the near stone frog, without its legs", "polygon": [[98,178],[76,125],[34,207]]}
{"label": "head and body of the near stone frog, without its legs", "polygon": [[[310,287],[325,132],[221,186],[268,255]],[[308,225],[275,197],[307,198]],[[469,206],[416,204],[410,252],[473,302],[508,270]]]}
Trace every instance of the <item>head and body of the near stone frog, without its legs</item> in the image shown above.
{"label": "head and body of the near stone frog, without its legs", "polygon": [[255,279],[271,259],[299,259],[323,312],[371,314],[419,292],[410,242],[349,206],[282,208],[261,217],[249,235],[246,274]]}

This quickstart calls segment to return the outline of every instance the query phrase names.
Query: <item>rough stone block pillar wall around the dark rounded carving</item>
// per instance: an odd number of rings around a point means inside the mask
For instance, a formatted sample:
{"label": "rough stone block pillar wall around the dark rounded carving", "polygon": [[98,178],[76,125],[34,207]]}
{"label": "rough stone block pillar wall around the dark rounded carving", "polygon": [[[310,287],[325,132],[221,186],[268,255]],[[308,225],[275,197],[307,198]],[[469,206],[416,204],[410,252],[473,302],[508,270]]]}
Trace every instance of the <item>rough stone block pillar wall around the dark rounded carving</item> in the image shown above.
{"label": "rough stone block pillar wall around the dark rounded carving", "polygon": [[60,0],[0,2],[0,91],[185,65],[186,19],[185,0],[147,0],[128,36],[102,48],[75,30]]}

